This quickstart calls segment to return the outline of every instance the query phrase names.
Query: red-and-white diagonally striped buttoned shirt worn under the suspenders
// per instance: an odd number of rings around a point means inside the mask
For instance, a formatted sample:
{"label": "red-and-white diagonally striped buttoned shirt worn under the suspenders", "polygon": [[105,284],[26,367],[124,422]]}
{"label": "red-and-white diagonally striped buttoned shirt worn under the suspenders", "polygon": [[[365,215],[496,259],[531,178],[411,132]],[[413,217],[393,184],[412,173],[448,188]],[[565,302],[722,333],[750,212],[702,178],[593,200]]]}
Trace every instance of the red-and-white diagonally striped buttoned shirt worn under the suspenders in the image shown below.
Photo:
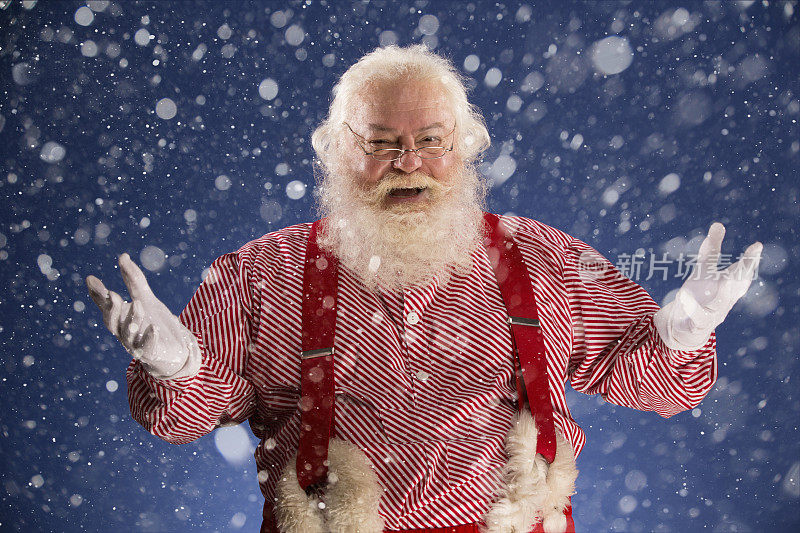
{"label": "red-and-white diagonally striped buttoned shirt worn under the suspenders", "polygon": [[[667,417],[691,409],[716,374],[715,338],[667,348],[658,306],[585,243],[522,217],[503,217],[534,283],[556,428],[580,453],[564,384]],[[300,312],[310,224],[251,241],[214,261],[181,321],[200,343],[192,378],[160,381],[132,362],[133,417],[169,442],[250,421],[259,483],[271,500],[297,449]],[[500,289],[484,248],[446,284],[367,290],[340,265],[335,433],[361,447],[386,489],[389,529],[480,521],[499,486],[517,392]],[[593,263],[593,264],[591,264]]]}

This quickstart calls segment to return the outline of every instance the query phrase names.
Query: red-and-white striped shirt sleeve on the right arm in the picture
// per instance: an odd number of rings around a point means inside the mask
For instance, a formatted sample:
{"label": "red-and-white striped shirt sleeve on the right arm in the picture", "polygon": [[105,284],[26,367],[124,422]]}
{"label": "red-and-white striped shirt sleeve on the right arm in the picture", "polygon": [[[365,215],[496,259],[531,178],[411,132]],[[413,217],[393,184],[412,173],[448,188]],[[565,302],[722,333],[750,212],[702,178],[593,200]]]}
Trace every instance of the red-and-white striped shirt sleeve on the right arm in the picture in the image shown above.
{"label": "red-and-white striped shirt sleeve on the right arm in the picture", "polygon": [[659,307],[642,287],[577,239],[565,254],[572,387],[665,418],[697,406],[717,379],[715,335],[695,351],[668,348],[653,324]]}

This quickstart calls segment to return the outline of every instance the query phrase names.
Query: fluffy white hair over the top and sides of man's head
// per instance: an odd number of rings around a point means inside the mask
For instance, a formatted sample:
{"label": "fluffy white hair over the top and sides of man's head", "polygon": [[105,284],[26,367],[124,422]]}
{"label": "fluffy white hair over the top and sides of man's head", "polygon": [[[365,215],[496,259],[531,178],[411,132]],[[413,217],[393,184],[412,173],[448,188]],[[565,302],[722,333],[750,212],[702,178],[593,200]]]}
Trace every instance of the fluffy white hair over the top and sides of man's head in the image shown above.
{"label": "fluffy white hair over the top and sides of man's head", "polygon": [[352,120],[354,109],[364,100],[364,92],[375,87],[412,80],[436,83],[442,89],[455,116],[454,152],[467,164],[474,164],[489,147],[480,110],[467,100],[465,78],[453,63],[430,51],[424,45],[406,48],[377,48],[352,65],[333,88],[333,101],[328,117],[311,136],[323,177],[336,172],[342,153],[341,140],[347,131],[344,122]]}

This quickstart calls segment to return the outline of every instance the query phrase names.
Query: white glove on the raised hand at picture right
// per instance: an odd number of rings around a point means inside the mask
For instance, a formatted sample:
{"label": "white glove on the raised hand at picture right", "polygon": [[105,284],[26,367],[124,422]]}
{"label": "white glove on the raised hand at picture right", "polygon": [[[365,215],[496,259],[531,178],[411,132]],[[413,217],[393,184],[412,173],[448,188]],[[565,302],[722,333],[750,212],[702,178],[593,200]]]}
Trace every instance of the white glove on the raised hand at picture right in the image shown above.
{"label": "white glove on the raised hand at picture right", "polygon": [[760,242],[751,244],[742,258],[725,270],[717,269],[724,236],[725,226],[713,223],[700,245],[692,274],[675,299],[653,317],[664,344],[673,350],[694,351],[705,345],[758,275]]}

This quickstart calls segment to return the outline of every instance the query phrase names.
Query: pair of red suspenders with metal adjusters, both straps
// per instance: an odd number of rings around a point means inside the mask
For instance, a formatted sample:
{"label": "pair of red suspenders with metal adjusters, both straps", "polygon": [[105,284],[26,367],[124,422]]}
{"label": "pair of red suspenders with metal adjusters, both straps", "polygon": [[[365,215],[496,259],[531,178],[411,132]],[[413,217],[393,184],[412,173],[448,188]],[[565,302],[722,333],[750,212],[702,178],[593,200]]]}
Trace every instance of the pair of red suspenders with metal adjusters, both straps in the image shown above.
{"label": "pair of red suspenders with metal adjusters, both straps", "polygon": [[[552,463],[556,453],[553,407],[547,379],[544,339],[539,326],[533,285],[514,240],[500,217],[484,213],[485,244],[508,311],[520,409],[527,398],[536,420],[537,453]],[[333,428],[334,349],[338,261],[317,246],[314,222],[303,272],[303,344],[300,362],[300,442],[297,479],[305,490],[327,481],[328,441]],[[519,376],[522,376],[521,383]]]}

